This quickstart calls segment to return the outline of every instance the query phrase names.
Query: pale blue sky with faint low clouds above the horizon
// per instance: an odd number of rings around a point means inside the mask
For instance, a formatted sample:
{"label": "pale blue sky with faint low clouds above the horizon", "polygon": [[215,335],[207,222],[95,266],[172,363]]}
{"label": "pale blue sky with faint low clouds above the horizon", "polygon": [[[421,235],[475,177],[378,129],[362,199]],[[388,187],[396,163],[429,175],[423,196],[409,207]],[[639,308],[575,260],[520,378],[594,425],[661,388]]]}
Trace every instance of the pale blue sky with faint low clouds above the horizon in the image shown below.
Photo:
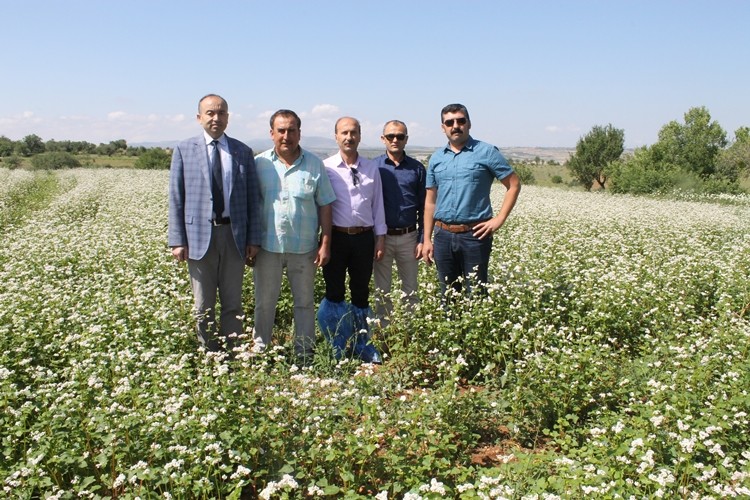
{"label": "pale blue sky with faint low clouds above the horizon", "polygon": [[0,135],[178,140],[198,98],[229,101],[227,133],[268,137],[290,108],[304,136],[343,115],[363,144],[409,125],[445,142],[440,109],[467,106],[500,147],[575,146],[594,125],[651,144],[708,108],[750,126],[750,1],[0,0]]}

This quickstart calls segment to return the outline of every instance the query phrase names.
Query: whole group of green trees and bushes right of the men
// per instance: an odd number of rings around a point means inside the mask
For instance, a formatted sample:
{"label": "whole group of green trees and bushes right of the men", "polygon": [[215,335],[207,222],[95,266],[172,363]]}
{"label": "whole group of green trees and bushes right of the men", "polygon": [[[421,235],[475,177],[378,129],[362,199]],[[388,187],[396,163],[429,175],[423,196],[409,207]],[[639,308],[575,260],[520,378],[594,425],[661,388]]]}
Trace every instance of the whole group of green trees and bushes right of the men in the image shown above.
{"label": "whole group of green trees and bushes right of the men", "polygon": [[623,155],[625,132],[596,125],[582,137],[567,161],[571,175],[587,190],[595,185],[614,193],[743,192],[750,174],[750,128],[740,127],[730,141],[705,107],[695,107],[684,122],[671,121],[658,140]]}

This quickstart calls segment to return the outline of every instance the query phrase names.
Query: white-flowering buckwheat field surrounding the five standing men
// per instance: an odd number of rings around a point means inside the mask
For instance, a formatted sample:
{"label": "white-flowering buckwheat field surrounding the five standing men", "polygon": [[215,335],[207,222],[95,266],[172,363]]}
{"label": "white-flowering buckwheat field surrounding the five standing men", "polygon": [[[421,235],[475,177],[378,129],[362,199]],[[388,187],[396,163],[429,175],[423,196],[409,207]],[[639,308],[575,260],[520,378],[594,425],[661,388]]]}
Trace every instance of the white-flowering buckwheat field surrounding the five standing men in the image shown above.
{"label": "white-flowering buckwheat field surrounding the five standing men", "polygon": [[273,350],[199,351],[168,175],[0,169],[0,496],[750,495],[750,198],[525,186],[487,296],[422,266],[383,365],[298,367],[287,289]]}

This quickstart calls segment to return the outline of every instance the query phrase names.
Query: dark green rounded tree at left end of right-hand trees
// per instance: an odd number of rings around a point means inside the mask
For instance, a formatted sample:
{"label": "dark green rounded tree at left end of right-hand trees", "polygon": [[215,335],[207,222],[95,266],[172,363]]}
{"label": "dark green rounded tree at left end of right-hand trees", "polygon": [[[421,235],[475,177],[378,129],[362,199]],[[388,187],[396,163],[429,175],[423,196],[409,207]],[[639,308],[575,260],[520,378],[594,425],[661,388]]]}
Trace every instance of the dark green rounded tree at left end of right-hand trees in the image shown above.
{"label": "dark green rounded tree at left end of right-hand trees", "polygon": [[590,191],[594,182],[604,189],[607,167],[620,158],[624,150],[625,131],[612,126],[595,125],[578,140],[576,152],[568,160],[571,175]]}

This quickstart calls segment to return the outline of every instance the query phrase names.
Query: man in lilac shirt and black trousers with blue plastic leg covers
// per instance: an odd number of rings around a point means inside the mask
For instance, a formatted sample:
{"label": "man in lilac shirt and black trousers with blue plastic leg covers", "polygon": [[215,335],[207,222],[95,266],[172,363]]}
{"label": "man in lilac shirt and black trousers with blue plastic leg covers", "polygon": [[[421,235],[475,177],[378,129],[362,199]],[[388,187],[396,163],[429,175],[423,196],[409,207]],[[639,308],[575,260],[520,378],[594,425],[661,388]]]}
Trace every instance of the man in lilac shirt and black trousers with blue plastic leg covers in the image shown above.
{"label": "man in lilac shirt and black trousers with blue plastic leg covers", "polygon": [[[335,132],[339,152],[323,162],[336,201],[332,203],[331,258],[323,266],[326,296],[318,309],[318,323],[337,358],[354,336],[354,355],[380,363],[367,324],[373,260],[383,258],[387,230],[380,172],[374,162],[357,152],[362,133],[359,121],[339,118]],[[345,300],[347,274],[351,305]]]}

